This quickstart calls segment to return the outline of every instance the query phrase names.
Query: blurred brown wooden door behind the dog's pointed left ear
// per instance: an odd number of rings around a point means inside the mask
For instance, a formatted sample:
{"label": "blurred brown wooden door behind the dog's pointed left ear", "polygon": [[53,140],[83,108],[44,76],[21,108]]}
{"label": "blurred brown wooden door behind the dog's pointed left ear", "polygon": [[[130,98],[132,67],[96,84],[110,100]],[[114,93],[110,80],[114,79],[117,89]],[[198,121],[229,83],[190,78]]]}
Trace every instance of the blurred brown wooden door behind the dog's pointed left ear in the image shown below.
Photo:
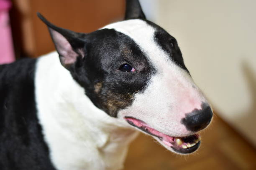
{"label": "blurred brown wooden door behind the dog's pointed left ear", "polygon": [[54,50],[37,12],[54,25],[87,33],[122,20],[124,11],[124,0],[13,0],[10,18],[16,56],[38,57]]}

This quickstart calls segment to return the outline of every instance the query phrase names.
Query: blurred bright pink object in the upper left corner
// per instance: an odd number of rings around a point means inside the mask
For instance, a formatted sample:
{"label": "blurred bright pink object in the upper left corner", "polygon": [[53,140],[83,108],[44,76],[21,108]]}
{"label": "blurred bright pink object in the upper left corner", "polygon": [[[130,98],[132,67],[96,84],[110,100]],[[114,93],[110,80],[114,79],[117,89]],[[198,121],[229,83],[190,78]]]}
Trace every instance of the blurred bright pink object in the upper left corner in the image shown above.
{"label": "blurred bright pink object in the upper left corner", "polygon": [[0,0],[0,64],[14,61],[13,41],[8,11],[9,0]]}

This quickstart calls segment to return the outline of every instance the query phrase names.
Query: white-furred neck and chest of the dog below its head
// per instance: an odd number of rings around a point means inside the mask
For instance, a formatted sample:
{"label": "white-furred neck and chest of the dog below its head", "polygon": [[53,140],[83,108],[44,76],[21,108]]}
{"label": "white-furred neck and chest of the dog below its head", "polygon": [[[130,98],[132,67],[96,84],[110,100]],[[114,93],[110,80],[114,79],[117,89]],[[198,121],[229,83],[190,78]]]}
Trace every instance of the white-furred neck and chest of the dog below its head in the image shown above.
{"label": "white-furred neck and chest of the dog below its head", "polygon": [[56,167],[121,168],[108,163],[123,163],[137,133],[93,105],[56,52],[38,60],[35,82],[39,122]]}

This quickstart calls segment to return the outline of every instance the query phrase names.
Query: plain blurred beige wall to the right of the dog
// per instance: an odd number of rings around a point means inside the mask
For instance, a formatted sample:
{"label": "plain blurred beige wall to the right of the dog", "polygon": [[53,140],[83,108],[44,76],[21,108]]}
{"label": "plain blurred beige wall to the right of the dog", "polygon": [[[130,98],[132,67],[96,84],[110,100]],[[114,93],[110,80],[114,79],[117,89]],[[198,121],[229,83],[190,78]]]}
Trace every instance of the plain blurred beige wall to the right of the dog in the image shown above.
{"label": "plain blurred beige wall to the right of the dog", "polygon": [[256,146],[256,1],[141,3],[149,19],[177,38],[185,64],[215,110]]}

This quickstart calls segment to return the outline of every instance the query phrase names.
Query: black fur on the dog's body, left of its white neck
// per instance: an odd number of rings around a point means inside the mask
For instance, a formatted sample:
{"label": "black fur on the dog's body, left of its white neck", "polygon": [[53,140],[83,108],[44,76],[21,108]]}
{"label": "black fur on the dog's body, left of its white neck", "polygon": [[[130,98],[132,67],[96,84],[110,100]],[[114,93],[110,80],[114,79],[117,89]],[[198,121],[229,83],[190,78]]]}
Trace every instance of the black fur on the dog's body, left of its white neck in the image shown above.
{"label": "black fur on the dog's body, left of its white neck", "polygon": [[35,63],[0,65],[1,170],[55,170],[36,115]]}

